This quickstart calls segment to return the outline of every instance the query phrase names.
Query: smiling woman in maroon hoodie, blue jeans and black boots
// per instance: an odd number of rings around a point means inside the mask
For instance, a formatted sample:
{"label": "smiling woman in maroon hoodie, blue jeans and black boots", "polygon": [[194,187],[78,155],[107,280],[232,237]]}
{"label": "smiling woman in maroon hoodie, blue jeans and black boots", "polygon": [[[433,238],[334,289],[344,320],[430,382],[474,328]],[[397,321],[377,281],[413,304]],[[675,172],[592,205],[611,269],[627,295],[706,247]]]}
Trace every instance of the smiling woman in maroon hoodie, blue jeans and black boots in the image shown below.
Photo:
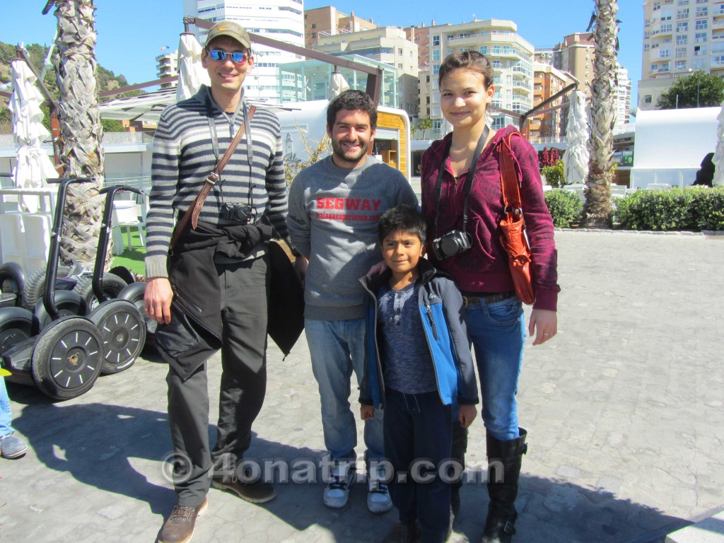
{"label": "smiling woman in maroon hoodie, blue jeans and black boots", "polygon": [[[515,296],[508,255],[500,245],[503,216],[500,141],[515,128],[490,130],[485,110],[494,96],[492,67],[476,51],[450,54],[439,67],[440,109],[452,133],[422,159],[422,211],[433,240],[428,251],[466,299],[466,324],[475,349],[487,432],[490,503],[482,543],[510,542],[526,431],[518,427],[518,376],[526,325]],[[521,199],[533,262],[536,300],[528,333],[533,345],[557,331],[556,251],[553,222],[543,199],[538,156],[523,138],[511,138],[521,172]],[[477,158],[476,158],[477,157]],[[468,195],[469,186],[469,195]],[[453,458],[463,458],[467,434],[458,429]],[[502,473],[500,467],[502,465]],[[458,486],[459,489],[459,486]],[[453,492],[452,508],[460,507]]]}

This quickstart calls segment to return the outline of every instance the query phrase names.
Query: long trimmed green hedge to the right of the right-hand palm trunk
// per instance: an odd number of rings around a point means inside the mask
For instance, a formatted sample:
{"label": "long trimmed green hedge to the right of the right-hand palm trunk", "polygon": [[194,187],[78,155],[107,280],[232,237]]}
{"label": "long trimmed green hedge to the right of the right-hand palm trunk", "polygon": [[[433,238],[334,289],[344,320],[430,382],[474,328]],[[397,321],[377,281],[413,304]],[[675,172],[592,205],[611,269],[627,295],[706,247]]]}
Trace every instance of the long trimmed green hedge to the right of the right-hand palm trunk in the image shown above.
{"label": "long trimmed green hedge to the right of the right-hand palm trunk", "polygon": [[724,230],[724,187],[637,190],[615,200],[614,222],[624,230]]}

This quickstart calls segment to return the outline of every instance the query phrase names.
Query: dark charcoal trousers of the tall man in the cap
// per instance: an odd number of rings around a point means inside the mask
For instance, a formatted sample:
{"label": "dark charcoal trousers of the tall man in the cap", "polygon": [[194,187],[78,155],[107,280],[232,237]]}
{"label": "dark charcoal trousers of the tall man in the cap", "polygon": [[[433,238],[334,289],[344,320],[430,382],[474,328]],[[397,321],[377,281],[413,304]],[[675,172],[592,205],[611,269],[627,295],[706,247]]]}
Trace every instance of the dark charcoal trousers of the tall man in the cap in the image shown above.
{"label": "dark charcoal trousers of the tall man in the cap", "polygon": [[[223,345],[219,421],[213,451],[209,447],[206,362],[185,380],[169,366],[166,379],[169,426],[180,463],[174,474],[174,487],[181,505],[203,503],[212,468],[216,468],[217,475],[235,474],[251,443],[251,425],[266,392],[269,258],[216,264],[216,269],[221,287]],[[214,352],[213,348],[201,350],[198,358],[206,360]]]}

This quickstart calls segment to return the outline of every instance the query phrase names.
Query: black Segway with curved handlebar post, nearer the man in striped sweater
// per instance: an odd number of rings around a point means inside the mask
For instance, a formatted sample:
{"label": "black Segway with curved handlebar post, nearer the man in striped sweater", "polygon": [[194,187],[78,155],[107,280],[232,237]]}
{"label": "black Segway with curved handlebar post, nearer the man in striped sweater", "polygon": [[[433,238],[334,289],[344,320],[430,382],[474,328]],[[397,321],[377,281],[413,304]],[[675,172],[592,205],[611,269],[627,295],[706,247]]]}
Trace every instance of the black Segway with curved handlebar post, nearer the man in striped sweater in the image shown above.
{"label": "black Segway with curved handlebar post, nearer the man in striped sweater", "polygon": [[90,312],[89,319],[98,327],[103,346],[101,374],[117,374],[130,368],[143,350],[146,342],[146,321],[134,303],[118,298],[111,299],[104,289],[104,264],[113,219],[113,198],[119,190],[143,194],[126,186],[114,186],[101,190],[106,193],[101,232],[98,235],[96,266],[93,268],[93,296],[99,305]]}

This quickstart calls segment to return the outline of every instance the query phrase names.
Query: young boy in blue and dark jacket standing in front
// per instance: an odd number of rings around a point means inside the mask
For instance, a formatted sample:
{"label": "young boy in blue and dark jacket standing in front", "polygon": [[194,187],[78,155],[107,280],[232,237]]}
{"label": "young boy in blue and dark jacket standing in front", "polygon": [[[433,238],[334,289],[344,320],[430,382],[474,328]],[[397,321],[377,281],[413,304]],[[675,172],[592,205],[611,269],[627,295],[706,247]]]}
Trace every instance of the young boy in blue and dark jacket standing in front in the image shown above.
{"label": "young boy in blue and dark jacket standing in front", "polygon": [[[360,281],[366,303],[361,418],[384,409],[384,452],[400,522],[387,542],[440,543],[450,533],[452,404],[460,424],[476,416],[478,388],[463,321],[463,298],[424,258],[425,221],[398,206],[379,219],[387,270]],[[442,466],[442,469],[441,469]]]}

